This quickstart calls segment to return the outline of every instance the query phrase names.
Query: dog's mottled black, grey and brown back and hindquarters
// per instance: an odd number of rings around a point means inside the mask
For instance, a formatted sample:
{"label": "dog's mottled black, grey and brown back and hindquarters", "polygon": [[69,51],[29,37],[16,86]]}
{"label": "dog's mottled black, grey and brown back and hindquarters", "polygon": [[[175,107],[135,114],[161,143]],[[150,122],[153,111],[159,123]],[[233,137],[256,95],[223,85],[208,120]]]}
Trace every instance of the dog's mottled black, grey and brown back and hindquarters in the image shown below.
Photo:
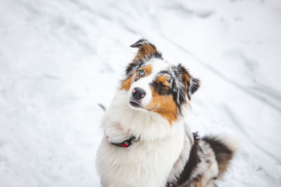
{"label": "dog's mottled black, grey and brown back and hindquarters", "polygon": [[[192,148],[189,157],[182,165],[174,169],[176,177],[168,179],[166,186],[216,186],[216,179],[224,172],[236,151],[235,142],[216,136],[206,136],[200,139],[197,134],[192,134]],[[182,152],[180,158],[184,158]],[[180,159],[179,158],[179,159]],[[176,174],[175,174],[176,175]]]}

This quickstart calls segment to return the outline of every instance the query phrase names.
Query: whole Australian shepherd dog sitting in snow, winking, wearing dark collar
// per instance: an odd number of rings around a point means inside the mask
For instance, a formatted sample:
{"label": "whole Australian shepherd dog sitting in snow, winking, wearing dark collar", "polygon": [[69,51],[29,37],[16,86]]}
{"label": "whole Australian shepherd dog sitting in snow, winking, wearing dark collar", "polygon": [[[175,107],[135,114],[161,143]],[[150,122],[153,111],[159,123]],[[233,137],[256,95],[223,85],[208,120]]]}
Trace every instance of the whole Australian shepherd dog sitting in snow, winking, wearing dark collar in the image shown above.
{"label": "whole Australian shepherd dog sitting in snow, winking, wearing dark collar", "polygon": [[221,137],[200,139],[184,116],[200,80],[170,64],[146,39],[126,67],[126,78],[102,118],[96,155],[103,187],[216,186],[235,146]]}

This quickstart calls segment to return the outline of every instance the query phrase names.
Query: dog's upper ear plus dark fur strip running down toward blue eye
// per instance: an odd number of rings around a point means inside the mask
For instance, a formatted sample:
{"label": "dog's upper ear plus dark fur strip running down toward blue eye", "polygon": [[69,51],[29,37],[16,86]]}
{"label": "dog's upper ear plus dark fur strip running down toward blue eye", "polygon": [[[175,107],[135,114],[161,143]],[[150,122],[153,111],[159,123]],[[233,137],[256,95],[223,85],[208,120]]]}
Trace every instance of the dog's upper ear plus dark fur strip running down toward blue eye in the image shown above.
{"label": "dog's upper ear plus dark fur strip running down toward blue eye", "polygon": [[162,54],[147,39],[140,39],[136,43],[133,43],[130,47],[138,48],[138,53],[136,53],[133,62],[126,67],[127,76],[129,76],[136,68],[141,67],[141,65],[151,57],[162,58]]}

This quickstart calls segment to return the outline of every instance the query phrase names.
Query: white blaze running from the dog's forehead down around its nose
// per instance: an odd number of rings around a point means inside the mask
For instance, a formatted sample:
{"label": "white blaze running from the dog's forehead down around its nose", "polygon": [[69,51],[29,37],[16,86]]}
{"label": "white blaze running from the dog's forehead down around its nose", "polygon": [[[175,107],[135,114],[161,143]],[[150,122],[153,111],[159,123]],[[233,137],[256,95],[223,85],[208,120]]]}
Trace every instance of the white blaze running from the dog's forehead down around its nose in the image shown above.
{"label": "white blaze running from the dog's forehead down around its nose", "polygon": [[152,66],[151,74],[148,76],[145,76],[143,78],[138,79],[138,81],[133,82],[131,85],[131,88],[128,92],[128,99],[130,101],[132,90],[133,88],[142,88],[145,90],[145,97],[143,97],[141,101],[141,106],[148,106],[152,99],[152,90],[150,88],[150,83],[152,83],[153,78],[157,75],[159,71],[165,70],[169,67],[169,63],[166,60],[158,59],[158,58],[152,58],[149,60],[146,65],[150,64]]}

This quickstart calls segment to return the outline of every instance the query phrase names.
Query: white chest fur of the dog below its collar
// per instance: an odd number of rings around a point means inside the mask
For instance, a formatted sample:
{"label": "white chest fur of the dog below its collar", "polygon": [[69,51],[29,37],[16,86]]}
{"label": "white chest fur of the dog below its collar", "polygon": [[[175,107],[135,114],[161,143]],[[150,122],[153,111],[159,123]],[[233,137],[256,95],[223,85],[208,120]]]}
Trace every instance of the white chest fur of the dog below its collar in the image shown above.
{"label": "white chest fur of the dog below its collar", "polygon": [[103,139],[97,167],[104,186],[164,186],[183,148],[183,136],[154,142],[134,142],[128,148]]}

